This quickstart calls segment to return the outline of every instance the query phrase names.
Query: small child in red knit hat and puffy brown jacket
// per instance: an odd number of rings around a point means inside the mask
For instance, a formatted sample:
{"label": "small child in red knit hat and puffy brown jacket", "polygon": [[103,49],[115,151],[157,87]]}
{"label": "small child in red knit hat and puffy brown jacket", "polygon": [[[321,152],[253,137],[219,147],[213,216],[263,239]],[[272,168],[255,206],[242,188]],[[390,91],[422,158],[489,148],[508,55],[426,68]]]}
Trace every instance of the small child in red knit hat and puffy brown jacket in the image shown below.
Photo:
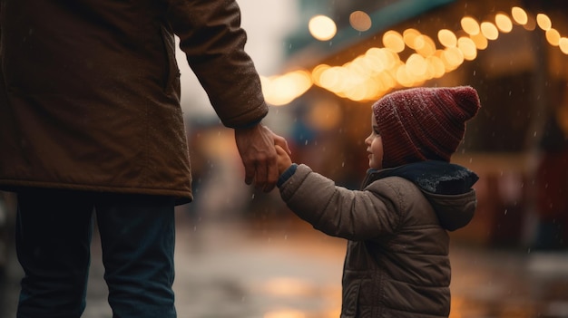
{"label": "small child in red knit hat and puffy brown jacket", "polygon": [[348,239],[341,317],[447,317],[449,236],[475,212],[474,172],[449,163],[480,107],[469,86],[393,92],[373,105],[362,189],[279,154],[279,191],[314,228]]}

